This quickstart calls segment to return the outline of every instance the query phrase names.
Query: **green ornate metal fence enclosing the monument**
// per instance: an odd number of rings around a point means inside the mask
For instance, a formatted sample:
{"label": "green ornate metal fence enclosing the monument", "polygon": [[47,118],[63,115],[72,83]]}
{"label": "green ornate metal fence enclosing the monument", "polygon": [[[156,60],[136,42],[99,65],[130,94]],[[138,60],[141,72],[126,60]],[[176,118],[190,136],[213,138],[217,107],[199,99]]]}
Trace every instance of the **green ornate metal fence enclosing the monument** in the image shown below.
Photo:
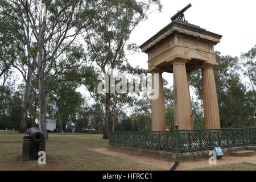
{"label": "green ornate metal fence enclosing the monument", "polygon": [[114,131],[109,146],[122,146],[173,152],[191,152],[256,145],[256,128],[171,130],[171,131]]}

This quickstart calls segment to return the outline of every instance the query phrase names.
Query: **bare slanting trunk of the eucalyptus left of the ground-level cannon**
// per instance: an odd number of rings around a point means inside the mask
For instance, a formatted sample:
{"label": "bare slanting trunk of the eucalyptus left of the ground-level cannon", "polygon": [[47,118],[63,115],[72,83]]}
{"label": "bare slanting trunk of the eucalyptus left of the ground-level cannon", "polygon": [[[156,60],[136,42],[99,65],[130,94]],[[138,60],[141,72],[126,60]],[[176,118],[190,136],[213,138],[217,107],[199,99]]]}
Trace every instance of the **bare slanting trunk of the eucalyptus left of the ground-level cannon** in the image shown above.
{"label": "bare slanting trunk of the eucalyptus left of the ground-level cannon", "polygon": [[28,82],[26,82],[25,92],[23,95],[23,107],[22,107],[22,114],[20,118],[19,133],[26,133],[26,129],[27,129],[26,116],[27,116],[27,108],[28,108],[28,96],[30,94],[31,78],[32,78],[32,69],[28,67],[28,73],[27,73]]}

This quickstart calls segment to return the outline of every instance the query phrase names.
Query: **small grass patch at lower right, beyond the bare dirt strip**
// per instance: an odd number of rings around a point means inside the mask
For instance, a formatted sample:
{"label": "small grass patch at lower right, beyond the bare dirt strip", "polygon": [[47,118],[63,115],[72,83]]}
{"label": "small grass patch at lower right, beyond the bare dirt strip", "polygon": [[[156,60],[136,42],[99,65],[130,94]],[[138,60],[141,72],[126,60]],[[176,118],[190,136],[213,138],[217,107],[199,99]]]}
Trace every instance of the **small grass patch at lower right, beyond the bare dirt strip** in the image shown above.
{"label": "small grass patch at lower right, beyond the bare dirt strip", "polygon": [[205,167],[193,169],[194,171],[256,171],[256,164],[251,163],[237,163],[226,164],[222,166]]}

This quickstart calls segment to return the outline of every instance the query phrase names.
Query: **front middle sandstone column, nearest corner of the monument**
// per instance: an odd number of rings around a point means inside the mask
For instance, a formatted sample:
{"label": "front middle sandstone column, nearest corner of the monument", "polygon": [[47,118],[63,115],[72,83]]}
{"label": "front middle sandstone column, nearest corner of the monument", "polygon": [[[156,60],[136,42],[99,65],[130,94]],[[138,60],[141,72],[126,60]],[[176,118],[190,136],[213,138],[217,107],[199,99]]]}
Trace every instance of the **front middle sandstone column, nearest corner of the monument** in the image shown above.
{"label": "front middle sandstone column, nearest corner of the monument", "polygon": [[174,67],[174,123],[180,130],[192,130],[191,102],[189,99],[188,78],[185,59],[172,62]]}

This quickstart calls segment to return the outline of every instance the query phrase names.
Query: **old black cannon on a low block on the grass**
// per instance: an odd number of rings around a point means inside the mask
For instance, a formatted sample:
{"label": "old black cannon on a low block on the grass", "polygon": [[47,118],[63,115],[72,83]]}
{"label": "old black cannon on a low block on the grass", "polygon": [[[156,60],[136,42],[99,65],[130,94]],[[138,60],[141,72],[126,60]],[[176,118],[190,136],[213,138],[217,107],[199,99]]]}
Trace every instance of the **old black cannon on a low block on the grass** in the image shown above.
{"label": "old black cannon on a low block on the grass", "polygon": [[46,138],[37,127],[31,127],[23,137],[22,160],[38,160],[38,152],[46,151]]}

